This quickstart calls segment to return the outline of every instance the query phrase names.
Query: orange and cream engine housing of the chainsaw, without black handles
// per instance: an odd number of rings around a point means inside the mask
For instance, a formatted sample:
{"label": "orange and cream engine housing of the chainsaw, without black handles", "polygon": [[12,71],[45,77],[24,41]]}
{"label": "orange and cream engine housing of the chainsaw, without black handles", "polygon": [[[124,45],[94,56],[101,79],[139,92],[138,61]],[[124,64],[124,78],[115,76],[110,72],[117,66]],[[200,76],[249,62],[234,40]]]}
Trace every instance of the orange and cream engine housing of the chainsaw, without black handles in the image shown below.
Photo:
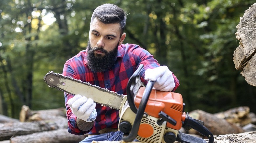
{"label": "orange and cream engine housing of the chainsaw, without black handles", "polygon": [[[134,99],[134,103],[137,108],[141,102],[144,90],[145,87],[140,87]],[[176,124],[173,125],[169,122],[161,121],[162,118],[159,116],[161,111],[166,113],[172,119],[176,120]],[[182,120],[184,121],[185,116],[183,115],[183,99],[181,94],[162,92],[152,89],[147,101],[143,118],[140,121],[136,139],[141,142],[160,143],[166,142],[164,140],[164,136],[171,134],[174,142],[178,134],[178,130],[182,126]],[[121,129],[122,131],[124,128],[127,129],[129,126],[133,126],[135,116],[136,114],[130,109],[129,105],[123,108],[120,115],[118,129]],[[184,118],[182,119],[182,117]],[[128,132],[129,129],[127,133]],[[170,138],[170,136],[168,136],[168,138]]]}

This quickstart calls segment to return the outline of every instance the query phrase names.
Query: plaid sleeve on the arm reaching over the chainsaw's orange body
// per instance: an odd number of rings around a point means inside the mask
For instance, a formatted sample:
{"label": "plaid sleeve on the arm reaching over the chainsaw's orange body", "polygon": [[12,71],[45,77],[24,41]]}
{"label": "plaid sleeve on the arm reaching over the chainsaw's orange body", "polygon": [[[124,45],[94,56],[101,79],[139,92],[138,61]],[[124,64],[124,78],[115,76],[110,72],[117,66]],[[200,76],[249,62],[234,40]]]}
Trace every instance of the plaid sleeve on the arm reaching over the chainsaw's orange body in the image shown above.
{"label": "plaid sleeve on the arm reaching over the chainsaw's orange body", "polygon": [[[128,44],[127,46],[134,46],[133,48],[131,48],[132,50],[130,52],[130,55],[134,57],[135,63],[137,65],[136,69],[139,67],[140,64],[144,65],[140,73],[140,76],[141,76],[141,81],[146,85],[147,81],[145,80],[145,70],[149,68],[152,69],[152,68],[159,67],[160,64],[156,59],[154,59],[152,54],[150,54],[147,50],[141,48],[139,45]],[[175,87],[172,90],[172,92],[174,92],[177,89],[177,87],[180,85],[179,80],[174,74],[173,74],[173,78],[174,78]]]}

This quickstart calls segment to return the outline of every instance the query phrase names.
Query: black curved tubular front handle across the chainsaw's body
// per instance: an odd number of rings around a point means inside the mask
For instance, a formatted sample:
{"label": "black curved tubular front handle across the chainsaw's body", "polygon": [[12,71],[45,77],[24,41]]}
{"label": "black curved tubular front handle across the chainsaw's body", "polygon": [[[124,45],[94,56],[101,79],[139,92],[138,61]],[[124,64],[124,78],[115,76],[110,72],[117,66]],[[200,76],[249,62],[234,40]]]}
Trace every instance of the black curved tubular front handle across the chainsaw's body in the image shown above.
{"label": "black curved tubular front handle across the chainsaw's body", "polygon": [[[139,66],[139,67],[141,67],[141,66]],[[143,66],[142,66],[142,68],[143,68]],[[138,69],[136,71],[138,71]],[[139,71],[140,70],[141,69],[139,69]],[[137,74],[137,73],[135,73],[135,74]],[[134,98],[131,97],[131,95],[127,94],[127,99],[128,99],[128,103],[130,105],[130,108],[131,108],[131,106],[134,106],[134,108],[137,110],[137,112],[136,112],[136,116],[135,116],[135,119],[134,119],[134,123],[133,123],[132,129],[131,129],[131,132],[129,133],[128,136],[123,136],[122,137],[123,141],[132,142],[136,138],[136,135],[137,135],[138,130],[139,130],[140,122],[141,122],[141,119],[143,117],[143,114],[144,114],[144,111],[145,111],[145,108],[146,108],[146,105],[147,105],[147,102],[148,102],[148,99],[149,99],[149,95],[151,93],[151,90],[152,90],[154,84],[155,84],[155,81],[150,81],[150,80],[148,81],[147,86],[146,86],[146,88],[143,92],[138,110],[134,105],[134,100],[133,100]],[[127,86],[127,87],[129,87],[129,86]],[[132,104],[130,104],[131,102],[132,102]]]}

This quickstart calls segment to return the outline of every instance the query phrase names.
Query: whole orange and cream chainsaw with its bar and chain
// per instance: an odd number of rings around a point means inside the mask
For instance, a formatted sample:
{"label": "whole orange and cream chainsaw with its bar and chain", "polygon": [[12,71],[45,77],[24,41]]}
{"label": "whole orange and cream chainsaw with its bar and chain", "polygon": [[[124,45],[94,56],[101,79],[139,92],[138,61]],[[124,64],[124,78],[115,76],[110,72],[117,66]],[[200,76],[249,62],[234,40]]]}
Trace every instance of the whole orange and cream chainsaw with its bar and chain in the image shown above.
{"label": "whole orange and cream chainsaw with its bar and chain", "polygon": [[127,95],[53,71],[44,76],[44,81],[49,87],[74,95],[80,94],[92,98],[102,106],[119,110],[118,130],[123,132],[122,140],[125,142],[132,142],[136,138],[147,143],[206,143],[202,138],[181,133],[179,129],[184,127],[186,130],[195,129],[206,136],[209,143],[213,143],[213,135],[204,126],[204,122],[193,119],[184,112],[185,104],[181,94],[155,90],[155,81],[149,80],[144,86],[139,77],[143,66],[139,65],[130,77]]}

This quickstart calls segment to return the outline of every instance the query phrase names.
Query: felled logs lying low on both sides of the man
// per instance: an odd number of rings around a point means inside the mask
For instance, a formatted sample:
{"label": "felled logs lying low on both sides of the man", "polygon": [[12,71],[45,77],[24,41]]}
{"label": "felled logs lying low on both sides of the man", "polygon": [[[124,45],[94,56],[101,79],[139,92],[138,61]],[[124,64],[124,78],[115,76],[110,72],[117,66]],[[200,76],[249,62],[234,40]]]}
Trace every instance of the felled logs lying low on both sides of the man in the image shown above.
{"label": "felled logs lying low on both sides of the man", "polygon": [[[0,143],[78,143],[87,135],[77,136],[67,131],[65,112],[65,108],[32,111],[27,106],[23,106],[20,120],[1,115]],[[256,132],[248,134],[248,131],[256,130],[254,125],[256,116],[250,113],[250,109],[246,106],[216,114],[194,110],[189,112],[189,116],[205,123],[204,126],[215,135],[215,143],[223,141],[228,143],[232,142],[231,140],[235,142],[241,140],[247,143],[250,143],[252,139],[255,141]],[[250,128],[244,128],[248,125]],[[200,135],[193,129],[183,131],[183,133]]]}

